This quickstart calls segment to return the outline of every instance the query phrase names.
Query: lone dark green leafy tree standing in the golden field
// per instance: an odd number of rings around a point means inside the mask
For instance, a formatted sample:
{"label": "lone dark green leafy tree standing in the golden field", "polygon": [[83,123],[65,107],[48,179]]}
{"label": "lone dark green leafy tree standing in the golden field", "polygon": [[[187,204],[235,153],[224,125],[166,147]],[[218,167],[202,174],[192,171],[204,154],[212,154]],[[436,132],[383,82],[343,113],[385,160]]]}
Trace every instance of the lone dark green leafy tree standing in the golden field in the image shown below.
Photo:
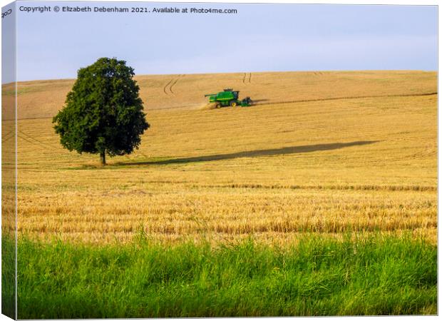
{"label": "lone dark green leafy tree standing in the golden field", "polygon": [[133,68],[116,58],[100,58],[78,70],[63,109],[53,118],[60,142],[69,151],[109,156],[130,154],[149,128]]}

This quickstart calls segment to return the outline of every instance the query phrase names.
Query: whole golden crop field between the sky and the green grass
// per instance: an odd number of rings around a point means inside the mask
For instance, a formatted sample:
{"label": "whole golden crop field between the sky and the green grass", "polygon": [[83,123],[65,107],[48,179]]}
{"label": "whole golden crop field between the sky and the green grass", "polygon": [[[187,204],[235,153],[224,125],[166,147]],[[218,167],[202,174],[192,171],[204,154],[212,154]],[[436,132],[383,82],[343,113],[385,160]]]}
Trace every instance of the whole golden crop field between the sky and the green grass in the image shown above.
{"label": "whole golden crop field between the sky and the green grass", "polygon": [[[139,151],[105,168],[53,133],[48,116],[73,81],[19,83],[20,235],[111,243],[143,230],[161,241],[283,244],[299,233],[380,231],[436,243],[436,73],[137,80],[151,128]],[[259,104],[200,108],[204,93],[226,87]]]}

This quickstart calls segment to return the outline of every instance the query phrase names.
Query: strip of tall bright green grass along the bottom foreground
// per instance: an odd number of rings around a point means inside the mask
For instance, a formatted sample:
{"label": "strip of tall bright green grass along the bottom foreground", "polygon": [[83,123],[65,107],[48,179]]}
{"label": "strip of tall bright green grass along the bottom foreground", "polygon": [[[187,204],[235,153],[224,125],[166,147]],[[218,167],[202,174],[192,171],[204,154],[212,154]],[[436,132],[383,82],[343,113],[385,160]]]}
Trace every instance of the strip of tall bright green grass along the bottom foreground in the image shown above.
{"label": "strip of tall bright green grass along the bottom foreground", "polygon": [[284,248],[19,241],[19,318],[437,313],[436,245],[308,235]]}

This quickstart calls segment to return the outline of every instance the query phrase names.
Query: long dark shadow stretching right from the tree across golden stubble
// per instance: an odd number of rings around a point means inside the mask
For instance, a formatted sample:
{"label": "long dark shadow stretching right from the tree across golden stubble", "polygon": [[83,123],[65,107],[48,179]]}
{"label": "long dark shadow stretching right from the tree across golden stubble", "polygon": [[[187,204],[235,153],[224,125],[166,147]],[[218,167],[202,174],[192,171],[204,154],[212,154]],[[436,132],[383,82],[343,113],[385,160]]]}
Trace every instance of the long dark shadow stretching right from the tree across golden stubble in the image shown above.
{"label": "long dark shadow stretching right from the tree across golden stubble", "polygon": [[305,145],[305,146],[291,146],[284,148],[262,149],[257,151],[242,151],[242,152],[229,153],[229,154],[194,156],[186,158],[171,158],[171,159],[158,160],[158,161],[116,163],[115,165],[168,165],[168,164],[180,164],[180,163],[220,161],[220,160],[242,158],[242,157],[276,156],[276,155],[286,155],[286,154],[296,154],[296,153],[311,153],[314,151],[331,151],[339,148],[362,146],[377,142],[379,141],[352,141],[349,143],[327,143],[327,144],[316,144],[316,145]]}

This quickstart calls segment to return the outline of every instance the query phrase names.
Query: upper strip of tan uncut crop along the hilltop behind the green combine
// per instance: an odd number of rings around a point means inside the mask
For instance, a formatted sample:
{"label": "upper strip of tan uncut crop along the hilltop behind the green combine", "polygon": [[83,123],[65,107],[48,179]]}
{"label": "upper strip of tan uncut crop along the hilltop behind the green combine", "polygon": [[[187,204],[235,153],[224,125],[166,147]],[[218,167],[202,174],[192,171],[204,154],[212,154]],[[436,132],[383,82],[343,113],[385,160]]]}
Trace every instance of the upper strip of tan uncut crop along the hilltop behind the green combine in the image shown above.
{"label": "upper strip of tan uncut crop along the hilltop behind the green combine", "polygon": [[[436,93],[435,72],[327,71],[219,73],[135,76],[147,111],[198,109],[206,93],[235,88],[258,104],[330,98],[406,96]],[[63,106],[74,80],[26,81],[18,84],[19,118],[50,118]],[[6,97],[14,92],[6,89]]]}

